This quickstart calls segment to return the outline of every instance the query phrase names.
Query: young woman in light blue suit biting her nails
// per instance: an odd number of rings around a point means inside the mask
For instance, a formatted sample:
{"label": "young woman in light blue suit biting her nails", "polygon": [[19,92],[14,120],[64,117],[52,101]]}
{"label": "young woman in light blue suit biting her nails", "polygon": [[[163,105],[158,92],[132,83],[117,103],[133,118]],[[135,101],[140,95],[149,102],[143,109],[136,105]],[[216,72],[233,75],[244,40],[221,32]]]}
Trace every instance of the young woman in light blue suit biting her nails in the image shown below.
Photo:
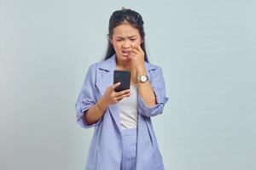
{"label": "young woman in light blue suit biting her nails", "polygon": [[[131,71],[130,89],[114,91],[114,70]],[[164,169],[151,117],[167,100],[160,66],[148,63],[142,16],[127,8],[113,12],[107,54],[90,65],[76,103],[79,125],[95,127],[85,169]]]}

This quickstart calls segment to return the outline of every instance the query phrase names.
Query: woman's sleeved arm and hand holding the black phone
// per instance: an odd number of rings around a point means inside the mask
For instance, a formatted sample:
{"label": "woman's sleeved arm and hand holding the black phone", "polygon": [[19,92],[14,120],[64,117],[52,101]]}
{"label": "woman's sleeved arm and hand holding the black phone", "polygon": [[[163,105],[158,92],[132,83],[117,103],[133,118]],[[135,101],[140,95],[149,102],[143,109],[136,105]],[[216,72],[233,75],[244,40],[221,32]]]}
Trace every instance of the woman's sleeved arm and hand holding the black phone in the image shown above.
{"label": "woman's sleeved arm and hand holding the black phone", "polygon": [[104,95],[96,100],[96,65],[90,65],[89,71],[84,79],[83,88],[76,103],[77,122],[81,127],[93,127],[101,122],[108,105],[113,105],[127,96],[130,96],[130,89],[121,92],[114,92],[114,88],[120,83],[115,83],[107,88]]}

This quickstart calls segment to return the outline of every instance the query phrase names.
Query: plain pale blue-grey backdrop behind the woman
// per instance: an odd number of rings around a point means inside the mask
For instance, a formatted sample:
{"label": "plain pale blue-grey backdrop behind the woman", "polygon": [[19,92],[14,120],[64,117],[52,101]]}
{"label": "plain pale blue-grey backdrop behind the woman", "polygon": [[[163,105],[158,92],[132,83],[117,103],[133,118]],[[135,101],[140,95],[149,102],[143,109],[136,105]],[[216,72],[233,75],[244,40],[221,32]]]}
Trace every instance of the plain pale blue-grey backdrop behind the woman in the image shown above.
{"label": "plain pale blue-grey backdrop behind the woman", "polygon": [[123,6],[166,79],[152,118],[166,170],[256,169],[253,0],[0,0],[0,168],[84,169],[93,128],[74,105]]}

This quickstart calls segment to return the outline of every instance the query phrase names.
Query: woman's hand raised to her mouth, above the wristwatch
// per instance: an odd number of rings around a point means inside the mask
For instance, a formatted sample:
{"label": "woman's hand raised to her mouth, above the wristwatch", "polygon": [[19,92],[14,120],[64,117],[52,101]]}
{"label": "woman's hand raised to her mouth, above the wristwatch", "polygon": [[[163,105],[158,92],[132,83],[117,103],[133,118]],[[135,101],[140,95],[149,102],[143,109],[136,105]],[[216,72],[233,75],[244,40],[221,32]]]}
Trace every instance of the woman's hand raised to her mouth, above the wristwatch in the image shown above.
{"label": "woman's hand raised to her mouth, above the wristwatch", "polygon": [[132,60],[132,64],[137,72],[145,71],[143,48],[140,45],[137,47],[131,46],[131,53],[129,54]]}

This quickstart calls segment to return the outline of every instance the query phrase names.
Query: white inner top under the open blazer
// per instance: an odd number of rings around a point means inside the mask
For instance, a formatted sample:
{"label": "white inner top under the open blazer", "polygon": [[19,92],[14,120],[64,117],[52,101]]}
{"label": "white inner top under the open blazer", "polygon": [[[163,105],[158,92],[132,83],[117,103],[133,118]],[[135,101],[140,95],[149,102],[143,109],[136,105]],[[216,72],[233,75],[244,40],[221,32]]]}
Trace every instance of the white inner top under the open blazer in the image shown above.
{"label": "white inner top under the open blazer", "polygon": [[118,103],[121,129],[137,127],[137,84],[131,85],[131,95]]}

